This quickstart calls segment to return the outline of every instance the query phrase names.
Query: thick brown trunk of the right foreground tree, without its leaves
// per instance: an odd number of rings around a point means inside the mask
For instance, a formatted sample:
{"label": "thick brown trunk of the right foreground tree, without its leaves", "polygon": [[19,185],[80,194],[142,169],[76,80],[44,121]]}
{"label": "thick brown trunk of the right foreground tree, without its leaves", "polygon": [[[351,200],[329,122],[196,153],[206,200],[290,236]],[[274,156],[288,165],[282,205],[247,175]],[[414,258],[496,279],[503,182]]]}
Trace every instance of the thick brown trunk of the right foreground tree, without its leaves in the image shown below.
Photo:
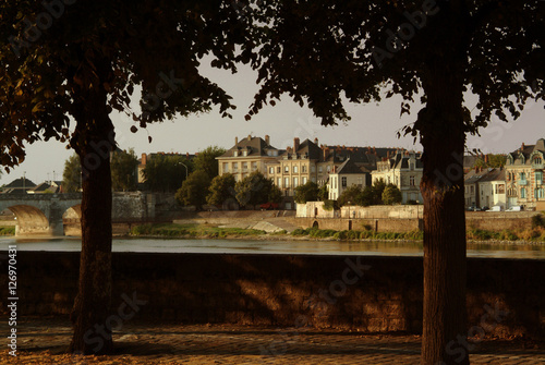
{"label": "thick brown trunk of the right foreground tree, without its leaves", "polygon": [[469,364],[462,81],[459,73],[438,64],[424,82],[424,89],[427,104],[417,119],[424,146],[422,364]]}

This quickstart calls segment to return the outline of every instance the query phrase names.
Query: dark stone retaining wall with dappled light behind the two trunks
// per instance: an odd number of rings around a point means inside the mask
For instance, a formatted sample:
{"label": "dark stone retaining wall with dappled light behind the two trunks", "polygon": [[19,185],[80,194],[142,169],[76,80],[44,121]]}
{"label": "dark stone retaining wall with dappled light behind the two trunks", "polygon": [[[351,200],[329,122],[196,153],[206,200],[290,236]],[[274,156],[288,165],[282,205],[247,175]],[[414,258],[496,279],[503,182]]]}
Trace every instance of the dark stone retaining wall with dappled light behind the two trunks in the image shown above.
{"label": "dark stone retaining wall with dappled light behind the two trunks", "polygon": [[[364,332],[422,328],[422,258],[114,253],[112,313],[141,318],[314,326]],[[498,336],[545,330],[545,261],[469,259],[469,325]],[[77,253],[17,254],[19,315],[69,314]],[[7,275],[0,273],[1,308]],[[143,303],[143,302],[138,302]],[[498,314],[484,316],[487,313]]]}

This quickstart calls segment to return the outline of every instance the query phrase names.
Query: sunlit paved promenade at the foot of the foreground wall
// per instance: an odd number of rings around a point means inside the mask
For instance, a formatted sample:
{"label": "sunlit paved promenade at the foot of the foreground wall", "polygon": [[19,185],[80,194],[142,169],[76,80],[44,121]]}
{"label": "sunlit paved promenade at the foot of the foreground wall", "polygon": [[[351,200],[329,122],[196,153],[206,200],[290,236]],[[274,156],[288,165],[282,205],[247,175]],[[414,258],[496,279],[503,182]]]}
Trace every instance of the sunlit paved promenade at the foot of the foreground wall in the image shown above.
{"label": "sunlit paved promenade at the foot of the foreground wall", "polygon": [[[9,333],[1,318],[2,341]],[[17,321],[17,357],[0,351],[0,364],[419,364],[419,336],[336,330],[129,321],[114,333],[116,354],[64,354],[72,328],[65,317]],[[486,339],[472,364],[545,364],[545,342]]]}

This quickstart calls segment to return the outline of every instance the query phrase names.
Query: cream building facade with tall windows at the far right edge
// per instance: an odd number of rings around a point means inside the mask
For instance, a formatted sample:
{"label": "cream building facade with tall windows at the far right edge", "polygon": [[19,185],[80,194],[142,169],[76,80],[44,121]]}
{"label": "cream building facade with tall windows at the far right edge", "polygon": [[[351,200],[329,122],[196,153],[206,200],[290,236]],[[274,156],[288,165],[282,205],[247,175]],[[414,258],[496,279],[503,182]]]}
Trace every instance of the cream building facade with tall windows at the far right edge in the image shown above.
{"label": "cream building facade with tall windows at the far right edge", "polygon": [[545,139],[535,145],[524,145],[507,155],[506,193],[507,207],[521,205],[534,209],[538,202],[545,202],[543,168]]}

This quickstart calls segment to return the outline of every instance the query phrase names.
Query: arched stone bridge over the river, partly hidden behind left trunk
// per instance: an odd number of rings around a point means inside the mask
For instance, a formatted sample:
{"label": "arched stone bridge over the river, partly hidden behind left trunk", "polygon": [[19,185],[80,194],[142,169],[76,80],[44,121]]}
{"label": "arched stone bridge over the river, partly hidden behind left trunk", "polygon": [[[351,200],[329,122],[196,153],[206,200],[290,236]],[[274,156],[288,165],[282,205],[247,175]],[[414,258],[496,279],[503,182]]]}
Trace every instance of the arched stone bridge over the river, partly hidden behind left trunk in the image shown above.
{"label": "arched stone bridge over the river, partly hidden behind left trunk", "polygon": [[[82,194],[0,195],[0,211],[16,219],[15,235],[64,235],[65,224],[78,224]],[[155,218],[155,196],[141,192],[113,193],[112,220],[145,221]]]}

